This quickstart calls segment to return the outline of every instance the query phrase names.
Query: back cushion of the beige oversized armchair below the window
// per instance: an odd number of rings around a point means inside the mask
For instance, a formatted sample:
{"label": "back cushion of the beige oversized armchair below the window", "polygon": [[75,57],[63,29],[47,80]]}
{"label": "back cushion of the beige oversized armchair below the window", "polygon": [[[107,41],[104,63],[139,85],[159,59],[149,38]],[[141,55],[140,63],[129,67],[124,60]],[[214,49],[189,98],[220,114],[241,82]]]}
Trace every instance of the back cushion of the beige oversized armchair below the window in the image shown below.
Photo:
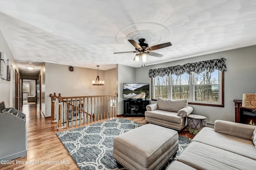
{"label": "back cushion of the beige oversized armchair below the window", "polygon": [[171,112],[178,112],[180,109],[188,106],[187,99],[170,100],[158,97],[156,103],[158,105],[158,109]]}

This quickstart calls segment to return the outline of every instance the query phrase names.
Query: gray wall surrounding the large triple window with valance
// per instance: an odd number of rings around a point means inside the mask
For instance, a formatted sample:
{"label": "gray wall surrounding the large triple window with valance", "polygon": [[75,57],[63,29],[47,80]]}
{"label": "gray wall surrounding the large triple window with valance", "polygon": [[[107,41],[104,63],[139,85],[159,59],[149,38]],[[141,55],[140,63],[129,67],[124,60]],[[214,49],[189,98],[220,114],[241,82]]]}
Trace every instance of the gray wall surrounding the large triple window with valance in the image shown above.
{"label": "gray wall surrounding the large triple window with valance", "polygon": [[[150,65],[136,69],[137,83],[150,83],[148,70],[160,67],[174,65],[183,65],[185,63],[194,63],[208,59],[226,58],[227,71],[224,75],[224,108],[208,107],[200,105],[190,105],[194,108],[193,113],[203,115],[209,123],[221,119],[226,121],[235,121],[234,99],[242,99],[243,93],[256,93],[256,45],[162,63]],[[151,90],[151,89],[150,89]],[[153,102],[154,103],[154,102]]]}

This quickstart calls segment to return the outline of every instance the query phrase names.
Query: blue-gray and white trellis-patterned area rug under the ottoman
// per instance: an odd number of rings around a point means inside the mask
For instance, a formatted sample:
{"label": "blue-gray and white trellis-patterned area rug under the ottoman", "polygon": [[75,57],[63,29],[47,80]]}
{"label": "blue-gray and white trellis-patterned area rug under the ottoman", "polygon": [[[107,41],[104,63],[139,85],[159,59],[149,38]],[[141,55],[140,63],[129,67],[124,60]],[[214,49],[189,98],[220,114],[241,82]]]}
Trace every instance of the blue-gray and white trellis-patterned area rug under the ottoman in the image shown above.
{"label": "blue-gray and white trellis-patterned area rug under the ottoman", "polygon": [[[142,124],[119,118],[59,132],[57,136],[81,170],[120,170],[113,158],[114,138],[140,126]],[[177,155],[190,142],[179,136]],[[169,163],[173,160],[176,158],[170,158]]]}

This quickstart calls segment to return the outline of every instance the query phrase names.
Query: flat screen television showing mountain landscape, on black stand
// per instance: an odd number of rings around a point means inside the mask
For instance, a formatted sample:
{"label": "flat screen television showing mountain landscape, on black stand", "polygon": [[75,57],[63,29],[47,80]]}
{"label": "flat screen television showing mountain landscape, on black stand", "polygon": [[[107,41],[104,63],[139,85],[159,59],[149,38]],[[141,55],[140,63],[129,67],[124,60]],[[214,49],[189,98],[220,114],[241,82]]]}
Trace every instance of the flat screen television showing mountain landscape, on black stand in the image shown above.
{"label": "flat screen television showing mountain landscape, on black stand", "polygon": [[149,83],[124,83],[123,99],[149,99]]}

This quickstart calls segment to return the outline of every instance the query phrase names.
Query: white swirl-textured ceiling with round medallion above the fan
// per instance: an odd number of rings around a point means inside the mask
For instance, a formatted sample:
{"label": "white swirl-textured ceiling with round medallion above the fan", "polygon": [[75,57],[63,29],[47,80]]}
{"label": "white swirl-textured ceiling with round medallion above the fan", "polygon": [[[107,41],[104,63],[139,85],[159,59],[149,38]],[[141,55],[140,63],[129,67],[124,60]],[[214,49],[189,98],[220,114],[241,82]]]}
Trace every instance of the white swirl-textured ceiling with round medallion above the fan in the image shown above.
{"label": "white swirl-textured ceiling with round medallion above the fan", "polygon": [[113,53],[134,51],[129,39],[171,42],[152,65],[255,45],[256,0],[0,0],[0,29],[25,65],[141,67],[135,53]]}

